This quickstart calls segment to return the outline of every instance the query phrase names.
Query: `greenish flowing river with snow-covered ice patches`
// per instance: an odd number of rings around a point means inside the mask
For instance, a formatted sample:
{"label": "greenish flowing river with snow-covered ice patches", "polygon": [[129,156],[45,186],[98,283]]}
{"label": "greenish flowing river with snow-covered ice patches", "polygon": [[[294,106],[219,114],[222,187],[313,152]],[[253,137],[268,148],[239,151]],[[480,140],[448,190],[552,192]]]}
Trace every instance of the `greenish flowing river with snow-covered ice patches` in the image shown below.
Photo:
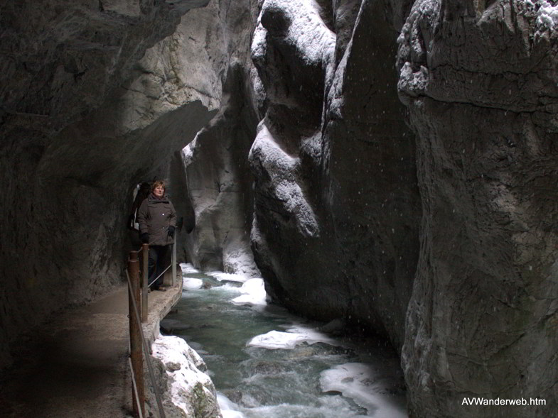
{"label": "greenish flowing river with snow-covered ice patches", "polygon": [[203,357],[224,418],[407,418],[385,341],[266,304],[260,279],[181,267],[178,312],[161,326]]}

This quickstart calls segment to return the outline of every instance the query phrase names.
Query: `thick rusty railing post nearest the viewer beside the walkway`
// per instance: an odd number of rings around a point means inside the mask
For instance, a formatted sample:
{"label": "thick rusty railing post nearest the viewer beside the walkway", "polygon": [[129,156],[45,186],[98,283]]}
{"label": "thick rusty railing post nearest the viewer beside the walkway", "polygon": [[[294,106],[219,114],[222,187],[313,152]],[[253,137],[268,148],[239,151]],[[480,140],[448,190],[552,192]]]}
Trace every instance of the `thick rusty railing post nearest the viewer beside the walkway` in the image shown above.
{"label": "thick rusty railing post nearest the viewer beside the walkway", "polygon": [[128,272],[132,287],[128,287],[128,306],[130,317],[130,358],[132,360],[132,368],[136,377],[136,389],[138,393],[138,401],[136,402],[136,395],[132,385],[132,405],[134,408],[134,417],[139,417],[137,404],[141,407],[141,416],[145,416],[145,390],[144,390],[144,358],[141,353],[141,331],[136,315],[134,312],[134,302],[136,307],[139,307],[140,289],[139,289],[139,260],[136,251],[130,251],[128,258]]}

